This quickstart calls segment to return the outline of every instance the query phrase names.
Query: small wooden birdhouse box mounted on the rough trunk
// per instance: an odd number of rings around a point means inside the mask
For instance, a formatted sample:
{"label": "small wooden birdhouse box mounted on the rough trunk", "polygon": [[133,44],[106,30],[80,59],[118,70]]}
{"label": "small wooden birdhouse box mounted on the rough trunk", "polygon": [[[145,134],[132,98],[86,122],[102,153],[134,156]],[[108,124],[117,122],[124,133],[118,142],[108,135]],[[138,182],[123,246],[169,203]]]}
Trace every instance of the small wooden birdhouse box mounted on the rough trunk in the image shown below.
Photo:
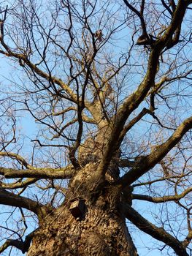
{"label": "small wooden birdhouse box mounted on the rough trunk", "polygon": [[72,201],[69,211],[71,212],[72,216],[76,219],[77,218],[82,219],[83,217],[85,217],[85,212],[86,212],[85,200],[77,199]]}

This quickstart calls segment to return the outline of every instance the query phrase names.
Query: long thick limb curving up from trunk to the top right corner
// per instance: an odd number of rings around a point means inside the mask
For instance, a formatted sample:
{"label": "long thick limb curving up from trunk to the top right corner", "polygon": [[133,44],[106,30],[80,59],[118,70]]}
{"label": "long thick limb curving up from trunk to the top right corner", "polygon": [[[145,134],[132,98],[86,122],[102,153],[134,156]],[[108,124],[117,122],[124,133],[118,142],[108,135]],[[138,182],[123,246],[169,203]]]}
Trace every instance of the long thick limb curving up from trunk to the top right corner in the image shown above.
{"label": "long thick limb curving up from trunk to the top right corner", "polygon": [[112,159],[113,152],[118,149],[118,139],[120,138],[120,134],[123,131],[123,127],[126,124],[128,116],[130,116],[131,113],[133,113],[133,111],[139,107],[140,103],[147,96],[147,93],[154,86],[155,75],[158,70],[158,59],[161,55],[161,51],[166,46],[167,40],[172,38],[174,32],[178,27],[180,27],[185,15],[185,11],[191,2],[192,1],[178,2],[171,23],[164,34],[155,42],[155,45],[151,50],[145,78],[142,80],[142,83],[140,83],[137,90],[124,101],[123,105],[119,108],[117,115],[115,115],[115,117],[112,119],[112,132],[96,175],[104,176],[104,173],[107,171],[107,167],[110,164],[110,160]]}

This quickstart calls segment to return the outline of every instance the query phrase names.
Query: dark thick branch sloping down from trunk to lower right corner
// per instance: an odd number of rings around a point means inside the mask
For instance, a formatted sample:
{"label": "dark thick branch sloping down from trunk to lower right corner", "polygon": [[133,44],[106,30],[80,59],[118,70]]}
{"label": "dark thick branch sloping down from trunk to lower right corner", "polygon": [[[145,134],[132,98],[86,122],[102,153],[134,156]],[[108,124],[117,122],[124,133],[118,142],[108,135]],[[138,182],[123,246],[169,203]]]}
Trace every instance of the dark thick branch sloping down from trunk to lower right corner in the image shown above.
{"label": "dark thick branch sloping down from trunk to lower right corner", "polygon": [[172,247],[178,256],[188,256],[185,246],[183,246],[183,244],[177,240],[177,238],[174,238],[174,236],[167,233],[164,228],[156,227],[151,222],[147,221],[147,219],[142,217],[137,211],[135,211],[134,208],[128,206],[128,204],[123,204],[123,208],[126,213],[126,218],[129,219],[134,225],[136,225],[139,230],[142,230],[158,241],[161,241],[164,244]]}

